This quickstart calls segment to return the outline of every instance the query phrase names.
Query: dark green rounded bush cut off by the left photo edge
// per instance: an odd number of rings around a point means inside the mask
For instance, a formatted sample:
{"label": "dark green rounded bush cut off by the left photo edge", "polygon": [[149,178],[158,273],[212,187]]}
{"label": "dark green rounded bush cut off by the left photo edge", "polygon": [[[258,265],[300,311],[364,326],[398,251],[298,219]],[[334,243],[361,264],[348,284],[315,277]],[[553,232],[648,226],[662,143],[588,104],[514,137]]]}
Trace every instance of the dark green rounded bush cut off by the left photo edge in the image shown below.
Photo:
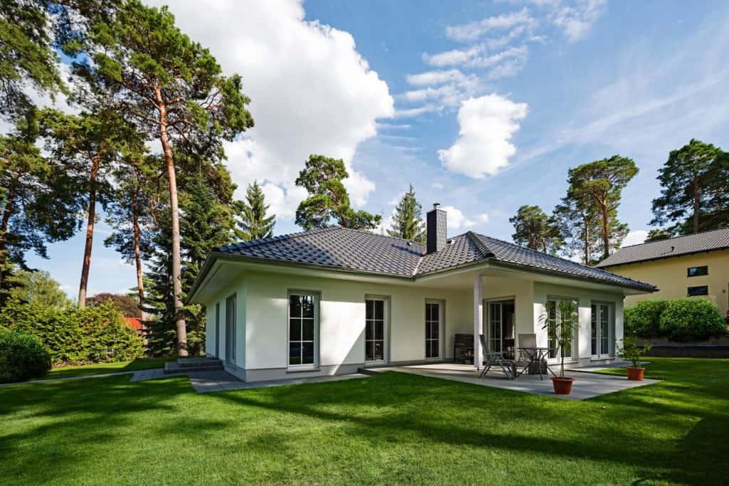
{"label": "dark green rounded bush cut off by the left photo edge", "polygon": [[50,356],[37,337],[0,329],[0,383],[40,377],[49,369]]}

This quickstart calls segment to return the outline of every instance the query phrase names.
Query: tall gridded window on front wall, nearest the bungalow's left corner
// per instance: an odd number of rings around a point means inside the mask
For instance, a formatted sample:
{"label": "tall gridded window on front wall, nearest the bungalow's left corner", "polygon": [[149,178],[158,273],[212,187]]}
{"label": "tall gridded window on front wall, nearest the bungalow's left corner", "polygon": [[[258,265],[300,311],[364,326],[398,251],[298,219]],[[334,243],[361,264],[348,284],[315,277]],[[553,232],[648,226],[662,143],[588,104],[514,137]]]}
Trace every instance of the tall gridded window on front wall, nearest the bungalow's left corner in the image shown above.
{"label": "tall gridded window on front wall, nearest the bungalow's left corner", "polygon": [[289,294],[290,367],[313,367],[316,364],[317,305],[315,294]]}

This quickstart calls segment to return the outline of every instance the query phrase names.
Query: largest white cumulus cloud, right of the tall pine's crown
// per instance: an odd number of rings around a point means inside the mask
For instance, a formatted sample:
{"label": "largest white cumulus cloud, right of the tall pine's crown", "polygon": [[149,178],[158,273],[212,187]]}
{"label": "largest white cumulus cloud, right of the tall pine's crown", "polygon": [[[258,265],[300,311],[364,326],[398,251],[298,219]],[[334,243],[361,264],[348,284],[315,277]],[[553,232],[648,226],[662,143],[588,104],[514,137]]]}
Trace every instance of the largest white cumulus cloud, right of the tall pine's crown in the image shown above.
{"label": "largest white cumulus cloud, right of the tall pine's crown", "polygon": [[394,100],[351,34],[304,20],[296,0],[165,3],[227,74],[241,74],[252,100],[255,127],[225,144],[238,197],[254,179],[265,181],[272,211],[288,217],[304,195],[294,186],[298,172],[310,154],[324,154],[344,160],[352,203],[366,203],[375,184],[352,160],[376,135],[377,119],[394,115]]}

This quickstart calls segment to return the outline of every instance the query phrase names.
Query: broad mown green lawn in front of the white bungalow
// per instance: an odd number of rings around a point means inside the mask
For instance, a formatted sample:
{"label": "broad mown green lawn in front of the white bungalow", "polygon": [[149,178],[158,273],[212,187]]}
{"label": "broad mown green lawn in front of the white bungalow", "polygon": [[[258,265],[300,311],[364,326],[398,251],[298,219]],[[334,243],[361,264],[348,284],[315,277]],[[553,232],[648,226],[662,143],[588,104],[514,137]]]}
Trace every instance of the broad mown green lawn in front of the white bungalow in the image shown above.
{"label": "broad mown green lawn in front of the white bungalow", "polygon": [[389,372],[198,395],[184,377],[0,388],[0,482],[721,484],[729,360],[599,399]]}

